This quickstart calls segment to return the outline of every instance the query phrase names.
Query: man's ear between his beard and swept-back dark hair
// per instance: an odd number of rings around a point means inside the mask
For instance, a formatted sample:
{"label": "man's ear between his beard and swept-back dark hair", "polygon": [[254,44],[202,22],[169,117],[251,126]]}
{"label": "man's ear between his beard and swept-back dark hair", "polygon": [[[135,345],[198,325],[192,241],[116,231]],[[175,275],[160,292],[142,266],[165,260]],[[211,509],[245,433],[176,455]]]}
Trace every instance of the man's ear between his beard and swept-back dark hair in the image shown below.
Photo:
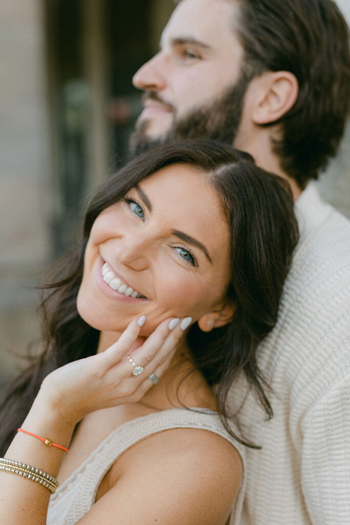
{"label": "man's ear between his beard and swept-back dark hair", "polygon": [[294,106],[299,84],[290,71],[268,71],[256,81],[257,98],[251,113],[254,124],[275,122]]}

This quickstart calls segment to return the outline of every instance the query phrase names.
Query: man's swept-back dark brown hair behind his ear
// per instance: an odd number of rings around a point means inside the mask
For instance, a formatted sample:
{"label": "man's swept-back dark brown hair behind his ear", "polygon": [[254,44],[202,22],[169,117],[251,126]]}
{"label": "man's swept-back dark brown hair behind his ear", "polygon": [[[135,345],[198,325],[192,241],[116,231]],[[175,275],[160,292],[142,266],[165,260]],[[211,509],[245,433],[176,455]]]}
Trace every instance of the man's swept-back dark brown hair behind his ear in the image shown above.
{"label": "man's swept-back dark brown hair behind his ear", "polygon": [[232,12],[232,29],[244,50],[246,75],[290,71],[298,80],[294,106],[266,125],[281,124],[282,138],[274,142],[274,152],[282,169],[303,188],[336,154],[349,114],[345,19],[332,0],[227,1],[239,7],[238,15]]}

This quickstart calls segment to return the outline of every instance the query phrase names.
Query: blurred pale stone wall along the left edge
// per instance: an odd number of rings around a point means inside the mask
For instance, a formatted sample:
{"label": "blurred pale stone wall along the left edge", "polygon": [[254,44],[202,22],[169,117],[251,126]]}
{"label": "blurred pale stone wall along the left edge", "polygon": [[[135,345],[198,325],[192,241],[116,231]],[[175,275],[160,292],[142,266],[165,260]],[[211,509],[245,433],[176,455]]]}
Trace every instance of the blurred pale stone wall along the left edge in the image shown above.
{"label": "blurred pale stone wall along the left edge", "polygon": [[46,75],[39,0],[0,2],[0,382],[38,337],[31,290],[50,254]]}

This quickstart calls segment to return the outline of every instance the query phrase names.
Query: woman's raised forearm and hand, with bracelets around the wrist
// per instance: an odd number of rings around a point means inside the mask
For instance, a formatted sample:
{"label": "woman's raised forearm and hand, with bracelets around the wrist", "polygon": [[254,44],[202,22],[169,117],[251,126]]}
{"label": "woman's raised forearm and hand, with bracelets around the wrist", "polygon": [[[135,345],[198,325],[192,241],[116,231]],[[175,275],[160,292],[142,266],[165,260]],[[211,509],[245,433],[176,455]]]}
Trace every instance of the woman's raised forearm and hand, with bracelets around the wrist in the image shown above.
{"label": "woman's raised forearm and hand, with bracelets around the wrist", "polygon": [[[49,374],[22,428],[68,447],[73,428],[84,415],[100,408],[139,401],[152,386],[147,377],[161,376],[172,359],[181,337],[181,323],[168,329],[169,319],[133,350],[144,372],[132,375],[125,358],[133,347],[140,326],[132,321],[119,340],[104,352],[69,363]],[[5,457],[20,461],[56,477],[65,452],[46,446],[39,439],[18,432]],[[51,492],[30,479],[0,471],[0,515],[8,525],[45,525]]]}

